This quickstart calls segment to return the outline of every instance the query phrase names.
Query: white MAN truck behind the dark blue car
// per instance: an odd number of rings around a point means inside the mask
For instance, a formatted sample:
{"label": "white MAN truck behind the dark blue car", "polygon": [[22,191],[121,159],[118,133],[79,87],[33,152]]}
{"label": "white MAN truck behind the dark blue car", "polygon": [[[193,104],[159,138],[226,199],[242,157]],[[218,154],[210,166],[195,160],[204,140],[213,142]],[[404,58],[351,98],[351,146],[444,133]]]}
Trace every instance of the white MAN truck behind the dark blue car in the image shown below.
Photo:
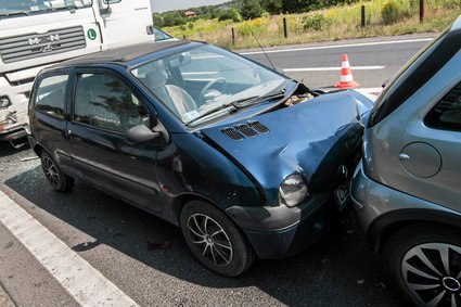
{"label": "white MAN truck behind the dark blue car", "polygon": [[149,0],[0,0],[0,141],[26,136],[30,88],[44,66],[153,40]]}

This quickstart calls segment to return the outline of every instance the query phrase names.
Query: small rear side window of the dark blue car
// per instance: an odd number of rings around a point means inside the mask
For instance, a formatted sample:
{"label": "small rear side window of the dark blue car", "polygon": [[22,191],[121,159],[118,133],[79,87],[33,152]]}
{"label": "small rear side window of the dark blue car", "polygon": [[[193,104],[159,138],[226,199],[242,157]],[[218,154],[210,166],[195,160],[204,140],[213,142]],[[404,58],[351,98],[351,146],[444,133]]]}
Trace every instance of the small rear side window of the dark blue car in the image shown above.
{"label": "small rear side window of the dark blue car", "polygon": [[35,110],[64,119],[65,88],[68,75],[43,78],[37,87]]}

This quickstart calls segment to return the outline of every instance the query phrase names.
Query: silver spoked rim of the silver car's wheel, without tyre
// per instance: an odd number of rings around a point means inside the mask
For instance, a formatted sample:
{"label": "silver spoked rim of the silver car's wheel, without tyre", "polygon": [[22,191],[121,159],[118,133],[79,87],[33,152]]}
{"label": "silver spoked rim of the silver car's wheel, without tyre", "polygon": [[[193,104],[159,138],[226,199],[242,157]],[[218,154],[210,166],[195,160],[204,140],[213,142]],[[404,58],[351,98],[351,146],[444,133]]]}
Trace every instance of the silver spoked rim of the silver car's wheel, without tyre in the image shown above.
{"label": "silver spoked rim of the silver car's wheel, without tyre", "polygon": [[461,306],[461,247],[424,243],[401,261],[404,281],[425,306]]}

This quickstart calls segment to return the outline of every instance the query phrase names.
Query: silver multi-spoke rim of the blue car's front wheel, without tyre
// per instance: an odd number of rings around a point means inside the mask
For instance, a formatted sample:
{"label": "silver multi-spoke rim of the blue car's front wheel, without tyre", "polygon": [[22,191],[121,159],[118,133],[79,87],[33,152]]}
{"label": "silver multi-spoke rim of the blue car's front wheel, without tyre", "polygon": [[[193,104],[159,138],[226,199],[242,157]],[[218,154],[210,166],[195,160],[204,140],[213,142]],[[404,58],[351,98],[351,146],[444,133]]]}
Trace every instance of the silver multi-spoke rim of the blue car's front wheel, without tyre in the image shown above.
{"label": "silver multi-spoke rim of the blue car's front wheel, without tyre", "polygon": [[232,243],[216,220],[204,214],[191,215],[188,219],[188,230],[192,243],[200,246],[203,257],[213,260],[218,267],[225,267],[232,261]]}

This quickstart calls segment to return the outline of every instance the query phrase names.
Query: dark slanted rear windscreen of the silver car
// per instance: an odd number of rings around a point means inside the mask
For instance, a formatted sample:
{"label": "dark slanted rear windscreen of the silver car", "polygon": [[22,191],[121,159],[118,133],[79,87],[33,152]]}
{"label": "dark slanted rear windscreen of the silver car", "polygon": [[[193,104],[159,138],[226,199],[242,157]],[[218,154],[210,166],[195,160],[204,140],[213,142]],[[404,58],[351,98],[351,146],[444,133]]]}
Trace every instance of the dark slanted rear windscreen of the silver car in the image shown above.
{"label": "dark slanted rear windscreen of the silver car", "polygon": [[377,99],[368,123],[373,127],[400,106],[461,49],[461,30],[443,33],[418,53]]}

